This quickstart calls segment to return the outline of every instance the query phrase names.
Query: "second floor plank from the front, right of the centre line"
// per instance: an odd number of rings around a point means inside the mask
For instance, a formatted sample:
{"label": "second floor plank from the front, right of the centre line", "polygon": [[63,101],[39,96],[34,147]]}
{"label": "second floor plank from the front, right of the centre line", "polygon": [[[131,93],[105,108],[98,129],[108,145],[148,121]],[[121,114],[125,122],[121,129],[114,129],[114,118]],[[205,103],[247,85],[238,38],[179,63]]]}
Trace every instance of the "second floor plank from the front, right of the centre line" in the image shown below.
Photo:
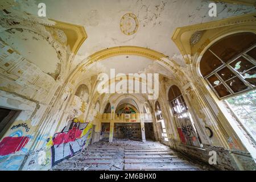
{"label": "second floor plank from the front, right of the centre line", "polygon": [[177,158],[125,159],[125,163],[187,163],[187,161]]}

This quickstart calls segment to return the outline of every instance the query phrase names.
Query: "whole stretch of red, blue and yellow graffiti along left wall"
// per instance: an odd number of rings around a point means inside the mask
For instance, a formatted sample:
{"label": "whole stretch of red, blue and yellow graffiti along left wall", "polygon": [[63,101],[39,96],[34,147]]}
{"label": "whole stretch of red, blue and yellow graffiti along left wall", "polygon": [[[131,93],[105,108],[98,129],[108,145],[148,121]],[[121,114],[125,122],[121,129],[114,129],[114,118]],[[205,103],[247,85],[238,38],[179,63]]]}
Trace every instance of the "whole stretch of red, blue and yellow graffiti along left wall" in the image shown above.
{"label": "whole stretch of red, blue and yellow graffiti along left wall", "polygon": [[[85,149],[91,139],[92,123],[69,122],[60,133],[40,134],[42,149],[29,152],[32,142],[30,122],[15,122],[0,142],[0,170],[48,170]],[[22,163],[24,165],[22,166]]]}

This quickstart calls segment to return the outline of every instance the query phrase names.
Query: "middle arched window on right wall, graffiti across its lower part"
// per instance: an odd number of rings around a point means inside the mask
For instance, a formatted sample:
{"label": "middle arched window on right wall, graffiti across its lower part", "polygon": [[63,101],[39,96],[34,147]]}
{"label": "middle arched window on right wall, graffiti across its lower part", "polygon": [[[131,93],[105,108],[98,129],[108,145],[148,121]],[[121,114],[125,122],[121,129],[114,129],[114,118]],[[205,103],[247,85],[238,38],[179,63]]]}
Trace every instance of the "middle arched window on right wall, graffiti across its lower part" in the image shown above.
{"label": "middle arched window on right wall, graffiti across its lower part", "polygon": [[191,146],[201,147],[202,144],[197,135],[187,104],[185,103],[180,89],[176,85],[172,85],[169,89],[168,100],[172,108],[172,113],[174,114],[181,142]]}

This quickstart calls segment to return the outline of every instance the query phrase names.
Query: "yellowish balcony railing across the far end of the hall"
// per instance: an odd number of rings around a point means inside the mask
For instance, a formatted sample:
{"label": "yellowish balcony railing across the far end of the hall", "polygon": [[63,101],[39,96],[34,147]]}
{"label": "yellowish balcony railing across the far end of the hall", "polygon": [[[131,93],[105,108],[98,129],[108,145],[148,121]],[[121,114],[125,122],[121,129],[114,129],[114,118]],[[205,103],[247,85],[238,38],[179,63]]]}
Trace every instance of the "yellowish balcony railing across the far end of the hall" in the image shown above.
{"label": "yellowish balcony railing across the far end of the hall", "polygon": [[96,117],[101,122],[152,122],[152,115],[148,113],[135,113],[135,114],[111,114],[103,113],[98,114]]}

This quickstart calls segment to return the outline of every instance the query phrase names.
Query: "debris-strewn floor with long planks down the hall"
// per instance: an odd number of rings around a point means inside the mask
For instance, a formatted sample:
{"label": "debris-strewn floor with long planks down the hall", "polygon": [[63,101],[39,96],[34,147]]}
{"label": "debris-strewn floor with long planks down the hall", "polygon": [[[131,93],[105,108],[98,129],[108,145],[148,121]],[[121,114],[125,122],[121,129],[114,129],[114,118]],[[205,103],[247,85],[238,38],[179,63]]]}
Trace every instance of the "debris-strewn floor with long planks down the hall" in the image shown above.
{"label": "debris-strewn floor with long planks down the hall", "polygon": [[159,142],[114,139],[90,145],[86,151],[53,167],[56,170],[168,170],[199,171],[203,168],[189,163],[177,152]]}

